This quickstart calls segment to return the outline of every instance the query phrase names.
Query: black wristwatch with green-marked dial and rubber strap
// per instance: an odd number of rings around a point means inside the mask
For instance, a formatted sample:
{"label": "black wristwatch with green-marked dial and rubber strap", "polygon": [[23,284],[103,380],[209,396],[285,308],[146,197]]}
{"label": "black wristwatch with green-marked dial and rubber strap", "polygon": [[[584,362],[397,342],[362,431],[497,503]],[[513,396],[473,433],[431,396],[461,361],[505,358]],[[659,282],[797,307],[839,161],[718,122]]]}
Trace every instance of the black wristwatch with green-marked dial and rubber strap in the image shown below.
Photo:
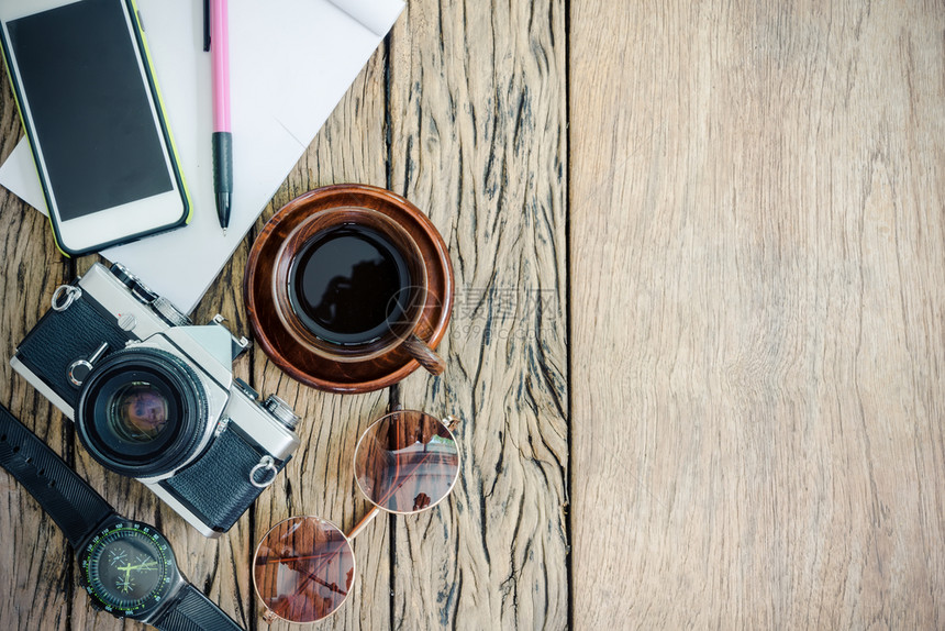
{"label": "black wristwatch with green-marked dial and rubber strap", "polygon": [[160,631],[242,631],[187,582],[156,528],[118,514],[3,406],[0,466],[36,498],[77,551],[93,607]]}

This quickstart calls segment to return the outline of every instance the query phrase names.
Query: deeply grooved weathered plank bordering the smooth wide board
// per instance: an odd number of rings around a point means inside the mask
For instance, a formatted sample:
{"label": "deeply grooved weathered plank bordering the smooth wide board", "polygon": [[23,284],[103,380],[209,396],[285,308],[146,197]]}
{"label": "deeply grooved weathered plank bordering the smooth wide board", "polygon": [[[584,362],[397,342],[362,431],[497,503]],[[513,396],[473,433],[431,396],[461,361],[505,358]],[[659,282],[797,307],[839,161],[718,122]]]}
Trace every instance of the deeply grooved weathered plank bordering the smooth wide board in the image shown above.
{"label": "deeply grooved weathered plank bordering the smooth wide board", "polygon": [[462,418],[453,497],[392,520],[398,629],[565,628],[565,2],[413,0],[391,36],[391,180],[446,239],[443,377],[407,408]]}

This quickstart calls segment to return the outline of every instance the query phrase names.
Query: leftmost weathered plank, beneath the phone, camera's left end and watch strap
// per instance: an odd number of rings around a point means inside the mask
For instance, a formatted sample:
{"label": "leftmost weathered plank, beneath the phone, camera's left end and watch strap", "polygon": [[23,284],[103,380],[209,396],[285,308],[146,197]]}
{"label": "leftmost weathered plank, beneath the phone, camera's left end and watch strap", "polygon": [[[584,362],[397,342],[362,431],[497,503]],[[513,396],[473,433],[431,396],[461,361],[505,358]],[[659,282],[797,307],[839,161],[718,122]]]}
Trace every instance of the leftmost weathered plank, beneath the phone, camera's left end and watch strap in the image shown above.
{"label": "leftmost weathered plank, beneath the phone, camera's left end and watch strap", "polygon": [[[22,135],[10,84],[3,80],[0,162]],[[48,308],[56,286],[68,278],[69,266],[56,251],[46,218],[2,188],[0,252],[0,402],[68,461],[70,438],[59,412],[13,372],[9,357]],[[67,629],[71,550],[55,522],[5,471],[0,472],[0,627]]]}

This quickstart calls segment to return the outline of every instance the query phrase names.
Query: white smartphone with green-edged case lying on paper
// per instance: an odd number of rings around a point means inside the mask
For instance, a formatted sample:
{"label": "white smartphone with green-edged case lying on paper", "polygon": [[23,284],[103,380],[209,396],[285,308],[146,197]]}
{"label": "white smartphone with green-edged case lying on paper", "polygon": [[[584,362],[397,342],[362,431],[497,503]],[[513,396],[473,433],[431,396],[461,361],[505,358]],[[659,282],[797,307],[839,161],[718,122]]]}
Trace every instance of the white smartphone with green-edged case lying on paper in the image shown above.
{"label": "white smartphone with green-edged case lying on paper", "polygon": [[190,220],[133,0],[2,0],[0,44],[65,255]]}

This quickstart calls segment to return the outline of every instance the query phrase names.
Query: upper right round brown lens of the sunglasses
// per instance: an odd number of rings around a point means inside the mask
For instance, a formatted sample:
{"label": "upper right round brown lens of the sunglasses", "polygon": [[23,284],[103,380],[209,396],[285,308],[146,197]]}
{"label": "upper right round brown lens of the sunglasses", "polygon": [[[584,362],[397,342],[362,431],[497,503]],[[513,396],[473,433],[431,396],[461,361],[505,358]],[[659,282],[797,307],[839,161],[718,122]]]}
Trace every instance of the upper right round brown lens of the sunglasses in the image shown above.
{"label": "upper right round brown lens of the sunglasses", "polygon": [[367,498],[390,512],[419,512],[446,497],[459,475],[453,433],[416,411],[388,414],[362,436],[355,479]]}

